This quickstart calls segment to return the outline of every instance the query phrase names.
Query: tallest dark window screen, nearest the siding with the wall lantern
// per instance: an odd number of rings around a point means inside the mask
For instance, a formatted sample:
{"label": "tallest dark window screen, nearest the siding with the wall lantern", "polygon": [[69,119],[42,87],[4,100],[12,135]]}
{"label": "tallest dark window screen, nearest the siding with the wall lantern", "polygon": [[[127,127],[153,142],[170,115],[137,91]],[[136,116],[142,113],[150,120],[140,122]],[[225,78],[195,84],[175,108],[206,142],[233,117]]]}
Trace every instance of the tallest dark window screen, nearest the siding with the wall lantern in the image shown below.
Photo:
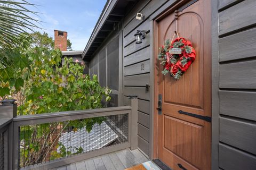
{"label": "tallest dark window screen, nearest the siding with the wall lantern", "polygon": [[107,85],[110,89],[118,90],[119,80],[119,37],[107,45]]}

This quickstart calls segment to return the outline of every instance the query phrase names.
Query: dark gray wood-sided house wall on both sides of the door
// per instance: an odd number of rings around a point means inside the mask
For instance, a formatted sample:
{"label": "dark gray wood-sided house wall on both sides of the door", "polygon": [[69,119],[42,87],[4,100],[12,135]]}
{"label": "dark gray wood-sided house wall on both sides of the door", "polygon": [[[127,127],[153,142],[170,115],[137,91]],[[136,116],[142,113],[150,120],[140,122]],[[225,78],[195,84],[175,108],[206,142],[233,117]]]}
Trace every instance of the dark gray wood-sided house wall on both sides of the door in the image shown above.
{"label": "dark gray wood-sided house wall on both sides of the door", "polygon": [[[150,158],[153,158],[153,21],[175,2],[178,0],[139,1],[89,64],[90,75],[98,74],[99,53],[106,50],[118,33],[121,66],[118,105],[129,105],[129,96],[138,96],[138,147]],[[256,2],[212,0],[211,3],[212,169],[256,169]],[[137,12],[145,15],[145,19],[136,20]],[[137,30],[146,30],[141,44],[135,44]]]}

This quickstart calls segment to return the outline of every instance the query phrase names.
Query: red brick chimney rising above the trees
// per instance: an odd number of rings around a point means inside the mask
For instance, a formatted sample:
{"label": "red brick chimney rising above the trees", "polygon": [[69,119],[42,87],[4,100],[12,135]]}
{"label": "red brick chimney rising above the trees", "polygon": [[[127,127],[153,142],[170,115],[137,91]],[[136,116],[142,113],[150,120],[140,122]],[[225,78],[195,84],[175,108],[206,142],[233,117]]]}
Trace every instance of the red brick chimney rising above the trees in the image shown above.
{"label": "red brick chimney rising above the trees", "polygon": [[54,48],[59,48],[62,52],[67,50],[68,32],[54,30]]}

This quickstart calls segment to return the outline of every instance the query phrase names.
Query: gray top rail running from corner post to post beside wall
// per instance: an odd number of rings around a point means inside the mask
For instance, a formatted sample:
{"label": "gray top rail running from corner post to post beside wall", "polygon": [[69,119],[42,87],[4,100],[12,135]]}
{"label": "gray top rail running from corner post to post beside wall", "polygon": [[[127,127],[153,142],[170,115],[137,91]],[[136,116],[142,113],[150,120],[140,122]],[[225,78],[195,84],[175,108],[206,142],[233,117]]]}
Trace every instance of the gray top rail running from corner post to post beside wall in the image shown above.
{"label": "gray top rail running from corner post to post beside wall", "polygon": [[43,113],[34,115],[22,115],[13,118],[17,125],[28,125],[37,123],[50,123],[58,121],[77,120],[81,118],[92,118],[100,116],[109,116],[115,114],[124,114],[131,112],[131,106],[108,107],[98,109],[86,109],[82,111],[67,111],[56,113]]}

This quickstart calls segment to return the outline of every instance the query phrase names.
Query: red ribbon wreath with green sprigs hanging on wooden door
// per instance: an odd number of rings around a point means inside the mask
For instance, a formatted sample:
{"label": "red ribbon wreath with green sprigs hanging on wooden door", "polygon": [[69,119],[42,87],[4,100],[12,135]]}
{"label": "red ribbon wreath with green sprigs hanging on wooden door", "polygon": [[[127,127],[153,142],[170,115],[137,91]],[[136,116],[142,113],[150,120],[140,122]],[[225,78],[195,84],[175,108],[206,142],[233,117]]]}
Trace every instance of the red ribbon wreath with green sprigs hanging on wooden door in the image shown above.
{"label": "red ribbon wreath with green sprigs hanging on wooden door", "polygon": [[[172,48],[181,48],[181,54],[171,54]],[[176,38],[171,43],[169,39],[166,40],[160,49],[158,60],[164,66],[162,73],[165,75],[170,72],[176,80],[180,79],[196,58],[196,51],[191,42],[183,37]]]}

